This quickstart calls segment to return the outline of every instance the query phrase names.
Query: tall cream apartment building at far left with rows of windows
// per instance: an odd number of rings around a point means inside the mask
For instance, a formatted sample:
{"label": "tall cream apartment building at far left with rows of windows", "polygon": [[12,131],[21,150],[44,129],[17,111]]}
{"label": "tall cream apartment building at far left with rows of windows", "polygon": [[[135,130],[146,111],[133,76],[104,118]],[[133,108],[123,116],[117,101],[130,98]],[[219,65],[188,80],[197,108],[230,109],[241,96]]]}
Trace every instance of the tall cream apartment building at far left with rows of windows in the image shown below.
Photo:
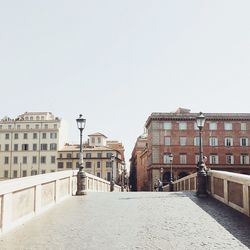
{"label": "tall cream apartment building at far left with rows of windows", "polygon": [[67,126],[50,112],[25,112],[0,121],[0,178],[57,170],[57,152],[67,141]]}

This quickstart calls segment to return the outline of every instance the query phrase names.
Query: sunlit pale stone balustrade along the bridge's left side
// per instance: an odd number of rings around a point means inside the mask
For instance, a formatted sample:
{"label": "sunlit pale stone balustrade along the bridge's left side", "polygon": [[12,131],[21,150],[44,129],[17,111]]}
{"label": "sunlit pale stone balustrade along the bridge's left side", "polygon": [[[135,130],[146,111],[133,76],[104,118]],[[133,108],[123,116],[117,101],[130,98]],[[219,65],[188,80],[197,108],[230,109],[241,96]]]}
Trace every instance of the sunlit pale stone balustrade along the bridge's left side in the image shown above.
{"label": "sunlit pale stone balustrade along the bridge's left side", "polygon": [[[77,171],[61,171],[0,182],[0,234],[75,195]],[[110,183],[86,173],[86,192],[109,192]],[[121,191],[115,185],[114,191]]]}

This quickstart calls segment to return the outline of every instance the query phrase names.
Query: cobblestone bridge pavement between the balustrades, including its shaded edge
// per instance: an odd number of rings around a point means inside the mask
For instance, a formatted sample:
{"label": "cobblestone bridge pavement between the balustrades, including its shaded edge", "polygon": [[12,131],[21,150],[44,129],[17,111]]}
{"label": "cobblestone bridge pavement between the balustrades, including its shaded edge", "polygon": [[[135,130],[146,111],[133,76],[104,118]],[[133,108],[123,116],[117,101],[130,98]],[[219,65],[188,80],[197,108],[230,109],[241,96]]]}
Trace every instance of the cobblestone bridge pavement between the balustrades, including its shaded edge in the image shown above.
{"label": "cobblestone bridge pavement between the balustrades, including its shaded edge", "polygon": [[0,238],[0,249],[249,249],[250,219],[192,193],[88,193]]}

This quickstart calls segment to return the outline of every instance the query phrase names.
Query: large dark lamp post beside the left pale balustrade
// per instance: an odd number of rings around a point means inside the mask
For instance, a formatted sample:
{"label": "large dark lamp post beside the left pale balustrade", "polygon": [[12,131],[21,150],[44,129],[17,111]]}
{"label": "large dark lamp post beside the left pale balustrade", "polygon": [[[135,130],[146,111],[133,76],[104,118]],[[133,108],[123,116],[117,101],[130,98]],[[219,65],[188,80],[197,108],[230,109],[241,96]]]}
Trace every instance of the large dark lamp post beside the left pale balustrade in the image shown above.
{"label": "large dark lamp post beside the left pale balustrade", "polygon": [[77,127],[80,130],[80,157],[79,157],[79,171],[77,173],[77,191],[76,195],[84,195],[86,189],[86,173],[83,171],[83,148],[82,148],[82,131],[85,128],[86,119],[79,115],[76,119]]}

